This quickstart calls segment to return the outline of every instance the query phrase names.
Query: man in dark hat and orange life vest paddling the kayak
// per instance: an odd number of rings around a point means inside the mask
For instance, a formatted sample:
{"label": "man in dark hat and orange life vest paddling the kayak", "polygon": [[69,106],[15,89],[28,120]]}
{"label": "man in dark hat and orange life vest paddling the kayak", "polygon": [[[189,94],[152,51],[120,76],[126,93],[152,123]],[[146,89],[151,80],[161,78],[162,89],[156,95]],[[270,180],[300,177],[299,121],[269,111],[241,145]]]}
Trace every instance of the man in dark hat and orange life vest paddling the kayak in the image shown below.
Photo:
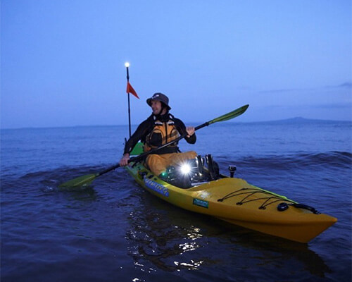
{"label": "man in dark hat and orange life vest paddling the kayak", "polygon": [[[150,149],[160,147],[180,135],[187,133],[184,139],[189,144],[196,142],[194,127],[186,127],[184,123],[169,113],[169,99],[163,93],[155,93],[153,97],[146,99],[146,103],[151,106],[153,113],[149,118],[139,124],[137,130],[133,133],[125,144],[123,157],[120,159],[121,166],[127,166],[130,159],[130,153],[139,140],[144,143],[144,152]],[[189,151],[181,153],[177,142],[168,147],[160,149],[156,154],[149,154],[146,157],[146,165],[151,172],[160,176],[168,166],[175,166],[187,159],[194,159],[196,152]]]}

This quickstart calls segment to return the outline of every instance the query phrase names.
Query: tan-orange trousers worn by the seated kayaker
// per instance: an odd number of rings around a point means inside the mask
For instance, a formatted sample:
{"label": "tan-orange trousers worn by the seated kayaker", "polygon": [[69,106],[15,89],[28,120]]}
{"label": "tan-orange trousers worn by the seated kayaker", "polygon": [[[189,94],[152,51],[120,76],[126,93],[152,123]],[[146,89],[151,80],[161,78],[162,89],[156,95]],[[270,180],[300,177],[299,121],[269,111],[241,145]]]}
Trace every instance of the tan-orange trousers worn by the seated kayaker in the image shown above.
{"label": "tan-orange trousers worn by the seated kayaker", "polygon": [[194,151],[172,154],[150,154],[146,157],[146,164],[155,176],[159,176],[168,166],[175,166],[186,161],[194,159],[197,153]]}

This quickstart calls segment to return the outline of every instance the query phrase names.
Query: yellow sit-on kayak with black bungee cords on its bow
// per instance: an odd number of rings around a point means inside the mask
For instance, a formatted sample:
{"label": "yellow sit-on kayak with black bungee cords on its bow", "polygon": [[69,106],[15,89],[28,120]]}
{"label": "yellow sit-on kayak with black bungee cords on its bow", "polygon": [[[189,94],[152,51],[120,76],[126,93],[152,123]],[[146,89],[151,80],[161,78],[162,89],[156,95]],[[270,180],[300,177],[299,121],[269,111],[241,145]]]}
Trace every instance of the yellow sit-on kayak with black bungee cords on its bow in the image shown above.
{"label": "yellow sit-on kayak with black bungee cords on its bow", "polygon": [[241,178],[220,175],[218,180],[184,189],[154,176],[141,163],[125,168],[139,185],[170,204],[296,242],[308,243],[337,222],[332,216]]}

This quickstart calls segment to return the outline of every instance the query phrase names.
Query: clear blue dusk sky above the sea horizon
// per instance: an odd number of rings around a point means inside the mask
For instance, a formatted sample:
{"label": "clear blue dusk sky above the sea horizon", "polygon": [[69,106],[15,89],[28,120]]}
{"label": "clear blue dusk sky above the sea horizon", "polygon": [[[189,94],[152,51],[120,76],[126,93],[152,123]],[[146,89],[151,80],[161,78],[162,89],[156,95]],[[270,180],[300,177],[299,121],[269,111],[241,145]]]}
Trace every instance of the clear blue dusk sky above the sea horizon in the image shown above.
{"label": "clear blue dusk sky above the sea horizon", "polygon": [[351,120],[351,1],[1,1],[1,127]]}

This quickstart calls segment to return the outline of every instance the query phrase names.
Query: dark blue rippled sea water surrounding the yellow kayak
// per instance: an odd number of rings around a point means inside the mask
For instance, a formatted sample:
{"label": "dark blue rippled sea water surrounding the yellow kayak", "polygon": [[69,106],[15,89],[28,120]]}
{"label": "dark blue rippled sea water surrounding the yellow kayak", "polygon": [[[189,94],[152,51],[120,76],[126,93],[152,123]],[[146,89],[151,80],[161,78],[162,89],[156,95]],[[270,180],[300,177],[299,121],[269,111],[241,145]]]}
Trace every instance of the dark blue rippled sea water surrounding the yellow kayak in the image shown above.
{"label": "dark blue rippled sea water surrounding the yellow kayak", "polygon": [[118,168],[126,126],[1,130],[1,281],[351,281],[350,122],[215,123],[182,150],[336,216],[308,244],[159,200]]}

